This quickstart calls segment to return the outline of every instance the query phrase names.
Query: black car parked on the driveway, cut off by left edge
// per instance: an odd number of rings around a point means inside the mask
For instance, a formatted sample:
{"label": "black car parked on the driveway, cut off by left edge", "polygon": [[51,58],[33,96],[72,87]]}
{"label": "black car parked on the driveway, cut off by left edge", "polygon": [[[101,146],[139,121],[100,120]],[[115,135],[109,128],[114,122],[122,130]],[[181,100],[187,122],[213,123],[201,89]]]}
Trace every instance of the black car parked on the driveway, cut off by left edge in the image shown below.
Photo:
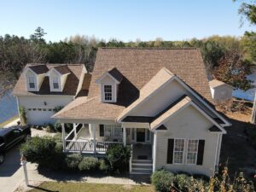
{"label": "black car parked on the driveway, cut off by left edge", "polygon": [[4,154],[21,141],[31,137],[31,130],[28,126],[13,126],[0,129],[0,164],[4,161]]}

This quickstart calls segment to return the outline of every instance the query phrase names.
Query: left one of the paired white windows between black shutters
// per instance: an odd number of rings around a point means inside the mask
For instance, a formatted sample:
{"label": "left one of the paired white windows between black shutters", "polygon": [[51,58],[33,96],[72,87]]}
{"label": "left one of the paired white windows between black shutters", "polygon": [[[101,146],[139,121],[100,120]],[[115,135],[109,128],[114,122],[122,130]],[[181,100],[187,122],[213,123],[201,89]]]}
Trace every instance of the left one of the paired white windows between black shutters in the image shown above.
{"label": "left one of the paired white windows between black shutters", "polygon": [[173,163],[183,164],[183,154],[184,154],[184,139],[175,139],[173,148]]}

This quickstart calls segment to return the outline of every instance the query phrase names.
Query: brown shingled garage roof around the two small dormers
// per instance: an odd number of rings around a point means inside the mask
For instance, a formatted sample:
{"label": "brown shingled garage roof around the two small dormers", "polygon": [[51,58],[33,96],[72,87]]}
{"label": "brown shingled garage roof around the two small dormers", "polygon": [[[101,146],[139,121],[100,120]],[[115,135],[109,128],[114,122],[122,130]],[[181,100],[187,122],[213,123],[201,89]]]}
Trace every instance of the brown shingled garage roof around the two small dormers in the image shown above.
{"label": "brown shingled garage roof around the two small dormers", "polygon": [[[38,65],[43,66],[43,65]],[[49,71],[52,67],[61,67],[63,64],[45,64],[44,67],[47,67],[47,71]],[[68,64],[64,65],[70,71],[70,74],[67,76],[67,81],[64,86],[62,92],[50,92],[49,90],[49,77],[44,77],[43,83],[40,87],[39,91],[27,91],[26,90],[26,78],[21,73],[20,79],[18,79],[15,84],[15,89],[13,90],[14,95],[22,95],[22,96],[34,96],[34,95],[67,95],[67,96],[75,96],[78,86],[79,79],[83,72],[84,64]],[[27,64],[26,67],[31,68],[31,64]],[[26,69],[25,67],[25,69]],[[36,67],[36,66],[32,66]]]}

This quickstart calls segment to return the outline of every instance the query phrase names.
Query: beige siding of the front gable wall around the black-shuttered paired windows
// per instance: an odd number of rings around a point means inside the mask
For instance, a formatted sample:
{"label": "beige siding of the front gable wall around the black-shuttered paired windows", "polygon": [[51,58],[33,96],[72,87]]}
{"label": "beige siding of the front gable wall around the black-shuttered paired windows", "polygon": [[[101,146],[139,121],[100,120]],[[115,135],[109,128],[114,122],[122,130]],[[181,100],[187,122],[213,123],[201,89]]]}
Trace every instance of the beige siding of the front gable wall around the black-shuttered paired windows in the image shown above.
{"label": "beige siding of the front gable wall around the black-shuttered paired windows", "polygon": [[[168,130],[157,133],[156,170],[165,168],[173,172],[201,173],[212,176],[215,168],[215,154],[218,143],[218,135],[208,131],[212,123],[194,107],[189,106],[169,119],[164,125],[166,125]],[[205,140],[203,165],[166,164],[167,143],[170,138]],[[186,155],[184,155],[184,163],[186,162],[185,158]]]}

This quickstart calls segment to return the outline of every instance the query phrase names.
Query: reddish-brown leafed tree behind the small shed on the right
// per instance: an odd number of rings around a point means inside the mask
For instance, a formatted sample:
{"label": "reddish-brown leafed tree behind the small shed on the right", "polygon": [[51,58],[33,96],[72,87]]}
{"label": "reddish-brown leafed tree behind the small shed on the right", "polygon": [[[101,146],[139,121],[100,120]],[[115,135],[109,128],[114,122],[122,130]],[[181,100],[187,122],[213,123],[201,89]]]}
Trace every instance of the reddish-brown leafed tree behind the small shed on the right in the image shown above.
{"label": "reddish-brown leafed tree behind the small shed on the right", "polygon": [[246,78],[249,73],[250,63],[243,61],[236,50],[230,50],[218,61],[213,77],[236,89],[248,90],[251,88],[250,81]]}

